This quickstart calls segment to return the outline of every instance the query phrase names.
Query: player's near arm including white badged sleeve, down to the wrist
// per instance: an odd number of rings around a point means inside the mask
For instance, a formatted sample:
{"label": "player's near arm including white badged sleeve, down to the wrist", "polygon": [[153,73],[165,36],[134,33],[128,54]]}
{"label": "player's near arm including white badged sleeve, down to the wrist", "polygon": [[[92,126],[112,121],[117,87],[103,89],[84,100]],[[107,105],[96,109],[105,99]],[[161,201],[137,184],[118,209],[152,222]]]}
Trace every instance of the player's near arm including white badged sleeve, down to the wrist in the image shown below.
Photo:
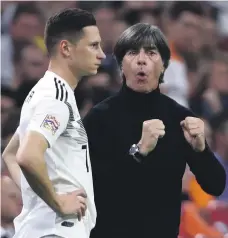
{"label": "player's near arm including white badged sleeve, down to the wrist", "polygon": [[40,101],[30,118],[18,149],[16,160],[32,190],[55,212],[61,213],[62,203],[48,175],[45,153],[54,146],[65,130],[69,109],[65,103],[47,98]]}

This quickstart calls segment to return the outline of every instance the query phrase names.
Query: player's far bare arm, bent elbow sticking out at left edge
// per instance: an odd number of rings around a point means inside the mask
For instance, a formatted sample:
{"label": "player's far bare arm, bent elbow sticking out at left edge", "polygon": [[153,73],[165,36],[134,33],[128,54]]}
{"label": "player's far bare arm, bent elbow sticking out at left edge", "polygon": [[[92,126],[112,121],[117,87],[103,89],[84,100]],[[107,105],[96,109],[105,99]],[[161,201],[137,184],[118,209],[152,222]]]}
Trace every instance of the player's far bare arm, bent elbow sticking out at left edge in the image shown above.
{"label": "player's far bare arm, bent elbow sticking out at left edge", "polygon": [[16,161],[16,153],[19,148],[19,135],[14,133],[9,144],[5,148],[2,154],[2,158],[6,164],[6,167],[15,182],[15,184],[21,188],[21,169]]}

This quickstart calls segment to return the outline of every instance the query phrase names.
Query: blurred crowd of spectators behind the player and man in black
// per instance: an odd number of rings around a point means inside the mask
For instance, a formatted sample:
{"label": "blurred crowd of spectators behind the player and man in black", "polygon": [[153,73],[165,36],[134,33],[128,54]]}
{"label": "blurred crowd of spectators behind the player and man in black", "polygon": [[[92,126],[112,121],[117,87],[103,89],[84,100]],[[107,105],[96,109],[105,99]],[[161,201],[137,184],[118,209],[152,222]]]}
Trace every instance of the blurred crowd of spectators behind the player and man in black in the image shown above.
{"label": "blurred crowd of spectators behind the player and man in black", "polygon": [[[81,116],[121,87],[112,56],[118,36],[138,22],[157,25],[167,36],[172,52],[161,91],[205,120],[208,143],[228,176],[228,2],[1,3],[2,150],[18,126],[27,93],[48,67],[45,21],[60,9],[79,7],[94,13],[107,55],[99,73],[84,78],[75,91]],[[12,221],[21,210],[21,195],[3,162],[1,172],[1,230],[2,237],[10,238]],[[228,181],[224,193],[214,198],[202,191],[187,168],[182,195],[181,237],[228,235]]]}

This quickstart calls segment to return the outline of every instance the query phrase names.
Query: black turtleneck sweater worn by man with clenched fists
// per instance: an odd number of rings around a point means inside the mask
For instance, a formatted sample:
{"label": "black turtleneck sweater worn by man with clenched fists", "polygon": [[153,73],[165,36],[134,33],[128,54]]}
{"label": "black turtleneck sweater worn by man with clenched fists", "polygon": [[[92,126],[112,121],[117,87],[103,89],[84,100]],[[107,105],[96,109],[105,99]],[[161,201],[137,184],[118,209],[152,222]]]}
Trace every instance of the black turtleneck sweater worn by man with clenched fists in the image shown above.
{"label": "black turtleneck sweater worn by man with clenched fists", "polygon": [[[97,224],[91,238],[176,238],[186,163],[214,196],[225,187],[225,171],[210,149],[195,152],[180,122],[194,116],[160,93],[123,86],[84,118],[94,178]],[[160,119],[166,134],[143,163],[130,155],[145,120]]]}

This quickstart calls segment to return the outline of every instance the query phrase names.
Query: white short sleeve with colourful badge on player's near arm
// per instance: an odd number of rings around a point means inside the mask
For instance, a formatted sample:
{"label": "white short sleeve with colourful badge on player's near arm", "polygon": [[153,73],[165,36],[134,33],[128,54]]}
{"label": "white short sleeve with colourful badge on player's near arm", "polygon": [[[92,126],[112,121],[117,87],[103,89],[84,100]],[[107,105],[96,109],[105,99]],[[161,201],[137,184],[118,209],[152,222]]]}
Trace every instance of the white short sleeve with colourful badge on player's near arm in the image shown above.
{"label": "white short sleeve with colourful badge on player's near arm", "polygon": [[35,107],[27,131],[42,134],[50,148],[65,131],[69,116],[69,109],[64,102],[54,99],[43,100]]}

